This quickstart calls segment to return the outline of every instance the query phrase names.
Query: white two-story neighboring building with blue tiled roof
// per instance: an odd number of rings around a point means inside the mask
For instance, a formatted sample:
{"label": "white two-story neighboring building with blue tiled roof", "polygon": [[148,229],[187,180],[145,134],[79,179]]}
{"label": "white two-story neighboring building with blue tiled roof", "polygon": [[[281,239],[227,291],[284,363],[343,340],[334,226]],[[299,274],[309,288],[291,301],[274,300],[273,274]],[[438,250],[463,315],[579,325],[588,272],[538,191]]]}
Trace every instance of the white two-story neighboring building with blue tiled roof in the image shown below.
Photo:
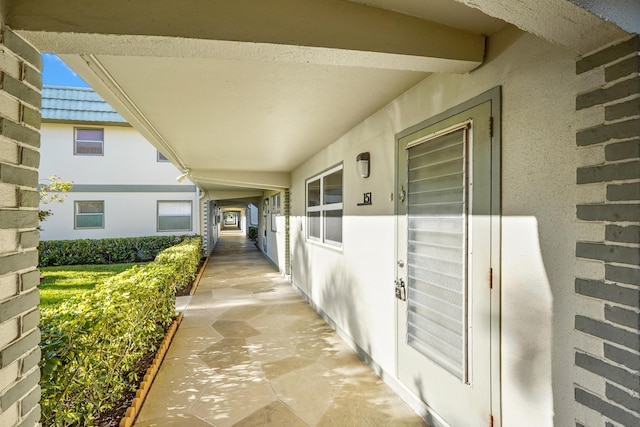
{"label": "white two-story neighboring building with blue tiled roof", "polygon": [[197,187],[92,89],[45,86],[41,135],[40,184],[74,183],[42,240],[200,233]]}

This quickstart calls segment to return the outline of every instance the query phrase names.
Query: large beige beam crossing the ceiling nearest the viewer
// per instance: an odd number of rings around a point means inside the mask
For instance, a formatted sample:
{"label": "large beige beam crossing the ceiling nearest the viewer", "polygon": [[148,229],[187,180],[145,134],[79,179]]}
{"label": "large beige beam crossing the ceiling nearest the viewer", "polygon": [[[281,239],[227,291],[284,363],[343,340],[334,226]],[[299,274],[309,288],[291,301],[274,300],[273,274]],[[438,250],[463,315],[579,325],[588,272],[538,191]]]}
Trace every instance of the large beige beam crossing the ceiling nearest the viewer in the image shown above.
{"label": "large beige beam crossing the ceiling nearest the viewer", "polygon": [[484,57],[481,35],[344,0],[20,0],[10,3],[8,21],[53,53],[257,54],[438,72],[438,65],[466,72]]}

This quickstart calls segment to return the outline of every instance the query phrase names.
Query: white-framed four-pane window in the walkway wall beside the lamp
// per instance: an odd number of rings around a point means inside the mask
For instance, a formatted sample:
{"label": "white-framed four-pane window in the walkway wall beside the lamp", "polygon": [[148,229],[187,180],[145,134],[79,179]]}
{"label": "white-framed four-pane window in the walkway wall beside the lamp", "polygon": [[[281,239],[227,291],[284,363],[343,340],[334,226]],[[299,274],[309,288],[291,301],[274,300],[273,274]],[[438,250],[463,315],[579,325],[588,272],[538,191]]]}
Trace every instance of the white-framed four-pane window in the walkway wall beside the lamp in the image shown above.
{"label": "white-framed four-pane window in the walkway wall beside the lamp", "polygon": [[307,180],[307,238],[342,246],[342,165]]}

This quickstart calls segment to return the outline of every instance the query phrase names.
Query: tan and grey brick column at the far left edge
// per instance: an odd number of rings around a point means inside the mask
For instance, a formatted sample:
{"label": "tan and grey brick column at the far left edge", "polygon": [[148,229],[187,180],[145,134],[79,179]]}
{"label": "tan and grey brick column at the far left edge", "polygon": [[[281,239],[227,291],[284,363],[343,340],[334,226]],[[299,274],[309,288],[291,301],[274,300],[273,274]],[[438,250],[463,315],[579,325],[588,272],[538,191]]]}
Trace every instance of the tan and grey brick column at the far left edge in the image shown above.
{"label": "tan and grey brick column at the far left edge", "polygon": [[0,425],[40,419],[38,165],[40,54],[8,28],[0,43]]}

